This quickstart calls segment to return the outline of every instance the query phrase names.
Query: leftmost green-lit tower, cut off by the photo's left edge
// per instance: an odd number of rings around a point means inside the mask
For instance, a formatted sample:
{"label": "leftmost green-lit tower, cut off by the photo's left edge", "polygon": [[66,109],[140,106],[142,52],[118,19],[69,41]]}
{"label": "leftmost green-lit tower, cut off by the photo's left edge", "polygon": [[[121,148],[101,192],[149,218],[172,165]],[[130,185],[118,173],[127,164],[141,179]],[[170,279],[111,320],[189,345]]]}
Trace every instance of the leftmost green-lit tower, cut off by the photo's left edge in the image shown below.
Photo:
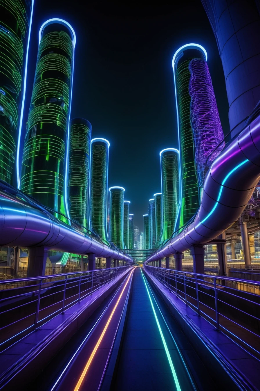
{"label": "leftmost green-lit tower, cut off by the photo's left edge", "polygon": [[19,187],[19,144],[34,0],[0,1],[0,179]]}

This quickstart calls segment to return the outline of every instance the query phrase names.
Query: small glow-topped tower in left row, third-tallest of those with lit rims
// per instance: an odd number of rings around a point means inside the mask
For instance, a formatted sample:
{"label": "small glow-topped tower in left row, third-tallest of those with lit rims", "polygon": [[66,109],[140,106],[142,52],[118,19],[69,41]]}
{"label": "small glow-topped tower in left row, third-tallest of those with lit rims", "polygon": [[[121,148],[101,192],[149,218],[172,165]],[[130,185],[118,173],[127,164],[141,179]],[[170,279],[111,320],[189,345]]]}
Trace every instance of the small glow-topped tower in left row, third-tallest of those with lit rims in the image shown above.
{"label": "small glow-topped tower in left row, third-tallest of those with lit rims", "polygon": [[110,191],[110,241],[124,249],[124,191],[120,186],[113,186]]}

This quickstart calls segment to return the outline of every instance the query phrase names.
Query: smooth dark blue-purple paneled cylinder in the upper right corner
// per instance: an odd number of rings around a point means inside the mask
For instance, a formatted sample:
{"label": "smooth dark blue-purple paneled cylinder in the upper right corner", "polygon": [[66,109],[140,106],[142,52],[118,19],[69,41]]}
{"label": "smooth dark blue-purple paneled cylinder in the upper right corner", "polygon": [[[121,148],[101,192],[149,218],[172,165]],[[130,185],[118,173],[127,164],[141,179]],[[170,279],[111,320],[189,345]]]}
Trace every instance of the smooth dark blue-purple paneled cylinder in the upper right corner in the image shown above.
{"label": "smooth dark blue-purple paneled cylinder in the upper right corner", "polygon": [[221,56],[231,136],[259,113],[259,1],[202,0]]}

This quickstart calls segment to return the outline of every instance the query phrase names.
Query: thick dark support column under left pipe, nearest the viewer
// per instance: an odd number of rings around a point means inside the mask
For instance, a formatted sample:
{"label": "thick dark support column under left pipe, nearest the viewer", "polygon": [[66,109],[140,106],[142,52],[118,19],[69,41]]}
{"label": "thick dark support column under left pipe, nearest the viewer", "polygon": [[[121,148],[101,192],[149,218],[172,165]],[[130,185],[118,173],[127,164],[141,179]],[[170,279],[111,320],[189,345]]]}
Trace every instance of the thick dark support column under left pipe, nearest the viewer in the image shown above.
{"label": "thick dark support column under left pipe, nearest the viewer", "polygon": [[44,246],[29,248],[27,277],[45,275],[48,252]]}

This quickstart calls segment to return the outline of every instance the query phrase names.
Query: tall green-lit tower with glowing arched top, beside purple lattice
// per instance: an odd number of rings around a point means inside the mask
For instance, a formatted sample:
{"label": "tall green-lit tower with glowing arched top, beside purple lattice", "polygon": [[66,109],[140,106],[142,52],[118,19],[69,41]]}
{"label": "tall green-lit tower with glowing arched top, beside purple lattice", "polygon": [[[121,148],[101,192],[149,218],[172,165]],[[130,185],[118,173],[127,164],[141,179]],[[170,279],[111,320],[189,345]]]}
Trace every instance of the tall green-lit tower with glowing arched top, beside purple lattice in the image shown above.
{"label": "tall green-lit tower with glowing arched top, beside purple lattice", "polygon": [[195,215],[199,205],[199,188],[194,160],[193,133],[190,122],[189,64],[194,58],[205,59],[205,49],[190,44],[181,47],[173,56],[172,66],[175,81],[175,98],[178,116],[180,169],[182,199],[179,226],[186,224]]}

